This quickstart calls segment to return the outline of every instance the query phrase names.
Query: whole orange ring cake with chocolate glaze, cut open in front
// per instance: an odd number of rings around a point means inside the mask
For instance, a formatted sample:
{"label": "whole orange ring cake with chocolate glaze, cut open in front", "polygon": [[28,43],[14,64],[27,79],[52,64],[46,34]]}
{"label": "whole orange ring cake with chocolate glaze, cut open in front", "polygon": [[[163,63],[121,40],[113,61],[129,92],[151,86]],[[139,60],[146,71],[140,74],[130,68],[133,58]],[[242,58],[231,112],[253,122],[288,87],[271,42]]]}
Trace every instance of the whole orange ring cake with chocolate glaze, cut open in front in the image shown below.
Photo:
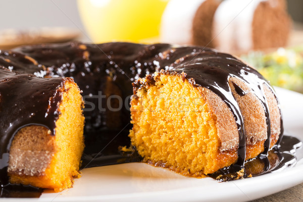
{"label": "whole orange ring cake with chocolate glaze, cut open in front", "polygon": [[[96,137],[106,147],[121,138],[120,145],[131,143],[145,162],[184,175],[201,176],[231,164],[242,165],[245,159],[266,154],[283,132],[278,102],[268,82],[239,59],[210,48],[124,42],[40,44],[2,51],[0,66],[12,71],[2,70],[6,75],[3,81],[11,76],[26,81],[10,85],[10,92],[33,89],[30,94],[18,94],[16,105],[30,98],[22,109],[37,111],[35,115],[22,112],[20,116],[25,118],[20,119],[21,125],[26,127],[15,128],[19,132],[11,147],[9,143],[1,146],[6,148],[3,154],[10,151],[8,165],[2,163],[8,154],[0,162],[9,167],[12,183],[56,190],[70,187],[83,150],[82,99],[72,79],[83,91],[88,150]],[[53,85],[44,87],[44,83]],[[42,91],[31,97],[36,89]],[[54,111],[47,111],[52,103],[56,104],[50,108]],[[12,106],[1,109],[8,114]],[[16,118],[16,113],[9,117]],[[49,113],[52,125],[44,117]],[[14,123],[14,119],[5,123]],[[35,126],[28,126],[31,124]],[[130,133],[128,129],[132,129]],[[12,138],[12,131],[1,133],[2,139]],[[45,132],[48,136],[36,135]],[[87,141],[92,136],[92,141]],[[34,145],[34,152],[27,150]],[[117,147],[112,150],[117,151]],[[20,154],[50,163],[27,160],[31,164],[25,165],[24,158],[18,158]],[[63,170],[71,172],[63,176]]]}

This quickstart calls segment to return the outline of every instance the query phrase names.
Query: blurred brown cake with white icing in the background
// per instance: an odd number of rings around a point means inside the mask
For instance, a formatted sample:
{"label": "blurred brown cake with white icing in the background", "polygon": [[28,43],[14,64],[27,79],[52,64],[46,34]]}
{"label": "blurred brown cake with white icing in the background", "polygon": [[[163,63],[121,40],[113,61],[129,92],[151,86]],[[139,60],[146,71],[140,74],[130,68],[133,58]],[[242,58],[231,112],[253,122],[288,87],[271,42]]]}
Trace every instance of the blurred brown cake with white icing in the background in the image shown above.
{"label": "blurred brown cake with white icing in the background", "polygon": [[162,17],[161,41],[247,52],[285,46],[289,31],[284,0],[172,0]]}

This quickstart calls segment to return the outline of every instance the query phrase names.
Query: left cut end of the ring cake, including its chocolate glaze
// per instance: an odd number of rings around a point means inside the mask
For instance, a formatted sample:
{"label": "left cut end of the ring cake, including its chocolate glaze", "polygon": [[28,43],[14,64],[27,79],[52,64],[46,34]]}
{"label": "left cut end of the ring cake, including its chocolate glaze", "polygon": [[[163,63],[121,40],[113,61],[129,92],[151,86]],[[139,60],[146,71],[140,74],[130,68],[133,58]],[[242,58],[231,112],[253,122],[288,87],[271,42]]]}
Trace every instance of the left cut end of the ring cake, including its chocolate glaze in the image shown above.
{"label": "left cut end of the ring cake, including its chocolate glaze", "polygon": [[71,187],[84,149],[82,107],[73,79],[0,70],[2,187]]}

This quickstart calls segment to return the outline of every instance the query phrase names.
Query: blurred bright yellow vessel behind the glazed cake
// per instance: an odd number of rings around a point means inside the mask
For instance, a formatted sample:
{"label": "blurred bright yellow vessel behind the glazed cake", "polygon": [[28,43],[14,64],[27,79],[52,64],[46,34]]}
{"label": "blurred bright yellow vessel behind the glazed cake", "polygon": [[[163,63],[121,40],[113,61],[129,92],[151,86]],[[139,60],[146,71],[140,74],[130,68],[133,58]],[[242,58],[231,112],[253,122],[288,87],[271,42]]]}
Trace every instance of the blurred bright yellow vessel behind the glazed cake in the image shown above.
{"label": "blurred bright yellow vessel behind the glazed cake", "polygon": [[169,0],[78,0],[84,27],[95,43],[158,42]]}

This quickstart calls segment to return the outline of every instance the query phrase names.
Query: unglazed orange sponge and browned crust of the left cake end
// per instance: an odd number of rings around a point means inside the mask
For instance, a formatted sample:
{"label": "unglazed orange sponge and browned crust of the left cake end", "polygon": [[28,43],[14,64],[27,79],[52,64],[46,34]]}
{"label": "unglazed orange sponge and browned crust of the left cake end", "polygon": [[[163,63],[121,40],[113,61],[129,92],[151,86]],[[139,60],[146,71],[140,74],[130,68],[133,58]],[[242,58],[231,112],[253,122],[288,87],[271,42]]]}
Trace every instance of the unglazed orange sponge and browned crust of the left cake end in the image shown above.
{"label": "unglazed orange sponge and browned crust of the left cake end", "polygon": [[66,80],[63,86],[58,89],[62,91],[62,102],[56,134],[53,136],[44,126],[30,125],[15,135],[8,168],[11,183],[61,191],[71,187],[79,176],[84,149],[83,100],[73,81]]}

